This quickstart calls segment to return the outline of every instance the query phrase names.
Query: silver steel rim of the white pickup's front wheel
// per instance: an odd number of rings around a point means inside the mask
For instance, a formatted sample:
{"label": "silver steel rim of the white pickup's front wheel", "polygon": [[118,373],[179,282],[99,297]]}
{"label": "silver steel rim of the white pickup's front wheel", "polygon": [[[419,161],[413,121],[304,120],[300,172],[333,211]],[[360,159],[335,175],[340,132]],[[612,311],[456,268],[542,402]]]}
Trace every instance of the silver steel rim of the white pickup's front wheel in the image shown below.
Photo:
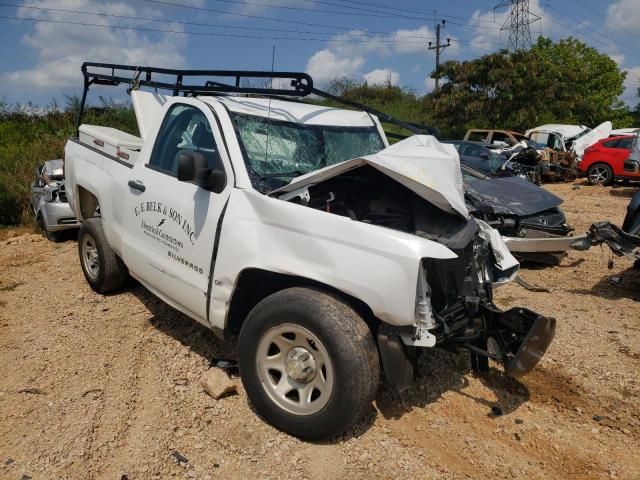
{"label": "silver steel rim of the white pickup's front wheel", "polygon": [[300,325],[267,330],[256,352],[258,377],[269,398],[295,415],[312,415],[333,392],[334,370],[322,342]]}

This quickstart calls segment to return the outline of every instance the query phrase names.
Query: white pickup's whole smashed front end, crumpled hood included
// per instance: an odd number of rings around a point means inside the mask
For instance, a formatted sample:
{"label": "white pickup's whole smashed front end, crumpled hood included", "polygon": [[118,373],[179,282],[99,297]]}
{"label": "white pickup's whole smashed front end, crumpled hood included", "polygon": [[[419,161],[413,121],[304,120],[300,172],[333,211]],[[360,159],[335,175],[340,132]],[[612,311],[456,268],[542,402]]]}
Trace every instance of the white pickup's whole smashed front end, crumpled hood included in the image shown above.
{"label": "white pickup's whole smashed front end, crumpled hood included", "polygon": [[429,168],[428,158],[448,151],[418,141],[428,139],[414,139],[407,147],[414,150],[396,144],[298,177],[271,195],[437,242],[456,255],[419,260],[413,318],[404,326],[379,324],[383,368],[396,389],[414,383],[420,352],[435,346],[468,350],[476,370],[488,369],[493,359],[507,374],[524,375],[551,343],[555,320],[525,308],[496,307],[493,288],[515,277],[518,262],[495,229],[469,216],[459,165]]}

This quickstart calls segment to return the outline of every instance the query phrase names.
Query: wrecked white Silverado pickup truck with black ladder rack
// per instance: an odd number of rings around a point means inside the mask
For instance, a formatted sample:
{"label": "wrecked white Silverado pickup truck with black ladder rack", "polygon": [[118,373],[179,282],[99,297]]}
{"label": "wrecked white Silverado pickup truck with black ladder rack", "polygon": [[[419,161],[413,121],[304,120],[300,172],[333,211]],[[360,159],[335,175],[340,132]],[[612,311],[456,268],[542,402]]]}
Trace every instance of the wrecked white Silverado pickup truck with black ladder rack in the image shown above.
{"label": "wrecked white Silverado pickup truck with black ladder rack", "polygon": [[[88,85],[123,82],[91,65],[83,103]],[[84,275],[101,293],[131,275],[238,336],[247,395],[274,426],[340,434],[381,370],[406,388],[436,345],[470,351],[478,370],[491,358],[519,376],[538,363],[555,321],[493,304],[518,265],[469,216],[452,146],[427,135],[389,146],[370,112],[260,97],[239,81],[187,87],[189,71],[165,84],[160,69],[115,69],[135,72],[140,138],[79,120],[65,149]],[[292,95],[321,92],[304,81]]]}

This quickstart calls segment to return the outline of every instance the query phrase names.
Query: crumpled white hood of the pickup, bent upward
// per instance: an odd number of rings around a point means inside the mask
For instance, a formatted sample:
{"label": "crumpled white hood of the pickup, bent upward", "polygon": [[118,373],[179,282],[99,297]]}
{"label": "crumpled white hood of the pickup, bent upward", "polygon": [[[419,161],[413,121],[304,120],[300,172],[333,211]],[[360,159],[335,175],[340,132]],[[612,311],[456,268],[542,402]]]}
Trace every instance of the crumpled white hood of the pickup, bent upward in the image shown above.
{"label": "crumpled white hood of the pickup, bent upward", "polygon": [[430,135],[414,135],[373,155],[296,177],[271,193],[291,192],[367,164],[445,212],[469,217],[458,152],[453,145],[440,143]]}

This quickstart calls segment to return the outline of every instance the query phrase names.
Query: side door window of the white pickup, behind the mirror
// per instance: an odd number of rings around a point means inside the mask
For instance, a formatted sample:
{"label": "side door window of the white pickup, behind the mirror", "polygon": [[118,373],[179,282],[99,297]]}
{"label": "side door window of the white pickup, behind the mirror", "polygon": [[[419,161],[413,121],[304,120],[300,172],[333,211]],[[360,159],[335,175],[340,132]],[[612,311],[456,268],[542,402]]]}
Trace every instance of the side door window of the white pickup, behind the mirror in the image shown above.
{"label": "side door window of the white pickup, behind the mirror", "polygon": [[191,105],[174,105],[162,122],[149,160],[158,170],[178,176],[178,159],[185,151],[196,151],[209,168],[223,168],[211,126],[204,113]]}

